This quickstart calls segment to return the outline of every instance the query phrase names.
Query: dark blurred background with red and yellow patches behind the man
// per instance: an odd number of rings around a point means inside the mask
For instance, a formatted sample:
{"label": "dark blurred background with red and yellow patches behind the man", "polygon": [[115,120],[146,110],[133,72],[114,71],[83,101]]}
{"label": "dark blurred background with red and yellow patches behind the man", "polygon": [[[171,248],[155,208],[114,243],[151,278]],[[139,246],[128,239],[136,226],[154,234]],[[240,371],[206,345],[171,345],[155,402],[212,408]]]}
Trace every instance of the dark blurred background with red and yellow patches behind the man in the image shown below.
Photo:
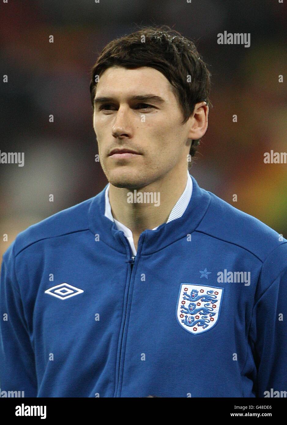
{"label": "dark blurred background with red and yellow patches behind the man", "polygon": [[[8,75],[0,150],[25,153],[24,167],[0,164],[1,256],[20,231],[107,184],[94,161],[90,69],[109,41],[139,25],[169,25],[194,40],[212,74],[213,108],[191,174],[286,238],[287,164],[264,164],[263,155],[287,151],[287,1],[9,0],[0,8]],[[219,45],[224,31],[250,33],[250,47]]]}

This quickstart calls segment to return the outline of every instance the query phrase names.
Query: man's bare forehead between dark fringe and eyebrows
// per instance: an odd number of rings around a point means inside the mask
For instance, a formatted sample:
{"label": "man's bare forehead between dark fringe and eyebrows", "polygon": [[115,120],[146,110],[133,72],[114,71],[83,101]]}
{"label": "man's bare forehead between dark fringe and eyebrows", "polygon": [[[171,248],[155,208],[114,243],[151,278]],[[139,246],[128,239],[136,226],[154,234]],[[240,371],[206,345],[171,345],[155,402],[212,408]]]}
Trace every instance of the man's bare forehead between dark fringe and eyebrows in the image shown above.
{"label": "man's bare forehead between dark fringe and eyebrows", "polygon": [[97,83],[97,96],[111,94],[135,94],[146,91],[158,96],[173,96],[172,86],[168,79],[157,69],[142,66],[126,69],[112,66],[106,69]]}

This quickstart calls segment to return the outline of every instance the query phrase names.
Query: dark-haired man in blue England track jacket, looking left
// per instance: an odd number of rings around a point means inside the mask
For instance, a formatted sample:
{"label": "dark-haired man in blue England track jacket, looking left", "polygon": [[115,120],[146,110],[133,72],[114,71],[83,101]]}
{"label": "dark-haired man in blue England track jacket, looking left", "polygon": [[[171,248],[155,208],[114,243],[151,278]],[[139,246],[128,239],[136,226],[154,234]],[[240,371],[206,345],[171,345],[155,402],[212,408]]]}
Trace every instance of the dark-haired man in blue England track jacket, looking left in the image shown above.
{"label": "dark-haired man in blue England track jacket, looking left", "polygon": [[21,232],[5,252],[3,390],[264,397],[287,389],[287,240],[188,173],[209,90],[194,44],[170,28],[142,28],[103,49],[90,91],[109,184]]}

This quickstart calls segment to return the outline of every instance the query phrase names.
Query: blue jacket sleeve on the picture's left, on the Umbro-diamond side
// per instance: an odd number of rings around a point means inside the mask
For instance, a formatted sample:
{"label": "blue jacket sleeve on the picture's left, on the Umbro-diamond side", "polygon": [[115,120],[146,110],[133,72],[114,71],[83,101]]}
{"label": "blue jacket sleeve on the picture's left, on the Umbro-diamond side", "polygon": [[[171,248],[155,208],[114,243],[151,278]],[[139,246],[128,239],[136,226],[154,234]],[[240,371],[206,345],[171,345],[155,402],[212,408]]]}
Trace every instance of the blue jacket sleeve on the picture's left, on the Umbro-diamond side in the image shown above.
{"label": "blue jacket sleeve on the picture's left, on the Umbro-diamond side", "polygon": [[15,272],[14,242],[3,255],[0,278],[0,388],[37,397],[34,351]]}

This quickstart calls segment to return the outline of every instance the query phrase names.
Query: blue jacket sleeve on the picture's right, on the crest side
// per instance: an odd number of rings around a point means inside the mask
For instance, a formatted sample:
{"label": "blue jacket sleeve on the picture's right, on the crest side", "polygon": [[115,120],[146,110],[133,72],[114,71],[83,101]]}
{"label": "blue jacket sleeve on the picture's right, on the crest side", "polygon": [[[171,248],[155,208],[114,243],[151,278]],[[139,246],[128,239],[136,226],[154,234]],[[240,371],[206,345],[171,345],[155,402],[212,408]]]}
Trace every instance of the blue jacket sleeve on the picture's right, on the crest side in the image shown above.
{"label": "blue jacket sleeve on the picture's right, on the crest side", "polygon": [[256,397],[280,397],[287,391],[287,243],[264,262],[258,292],[250,326]]}

